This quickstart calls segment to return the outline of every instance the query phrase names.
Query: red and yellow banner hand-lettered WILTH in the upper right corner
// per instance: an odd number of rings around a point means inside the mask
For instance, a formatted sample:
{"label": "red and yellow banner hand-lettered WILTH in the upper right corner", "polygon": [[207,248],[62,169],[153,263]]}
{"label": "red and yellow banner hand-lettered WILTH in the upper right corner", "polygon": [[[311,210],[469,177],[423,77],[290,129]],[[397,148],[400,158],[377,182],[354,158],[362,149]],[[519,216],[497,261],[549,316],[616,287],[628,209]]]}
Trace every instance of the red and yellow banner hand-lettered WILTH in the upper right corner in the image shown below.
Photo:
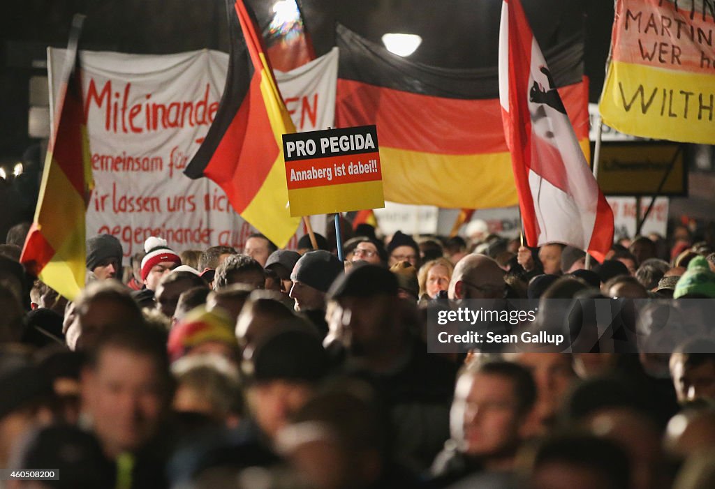
{"label": "red and yellow banner hand-lettered WILTH in the upper right corner", "polygon": [[715,2],[617,0],[603,122],[634,136],[715,144]]}

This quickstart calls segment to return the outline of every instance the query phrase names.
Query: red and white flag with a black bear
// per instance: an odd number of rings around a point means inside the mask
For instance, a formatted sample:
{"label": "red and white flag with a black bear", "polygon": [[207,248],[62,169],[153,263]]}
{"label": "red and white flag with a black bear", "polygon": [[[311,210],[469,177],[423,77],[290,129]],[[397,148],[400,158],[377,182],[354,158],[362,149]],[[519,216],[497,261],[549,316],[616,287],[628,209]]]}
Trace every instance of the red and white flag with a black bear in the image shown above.
{"label": "red and white flag with a black bear", "polygon": [[603,261],[613,242],[613,212],[519,0],[502,4],[499,99],[526,243],[564,243]]}

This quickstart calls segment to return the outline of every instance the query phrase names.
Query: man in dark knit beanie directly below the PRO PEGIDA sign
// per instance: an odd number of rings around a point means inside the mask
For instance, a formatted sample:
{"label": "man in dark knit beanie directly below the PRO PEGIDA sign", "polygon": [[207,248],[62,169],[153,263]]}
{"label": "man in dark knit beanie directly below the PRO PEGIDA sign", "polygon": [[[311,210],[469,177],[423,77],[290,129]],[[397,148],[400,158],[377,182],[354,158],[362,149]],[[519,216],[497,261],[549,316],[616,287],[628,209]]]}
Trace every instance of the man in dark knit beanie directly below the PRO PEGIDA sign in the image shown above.
{"label": "man in dark knit beanie directly below the PRO PEGIDA sign", "polygon": [[327,251],[309,251],[295,263],[290,278],[293,286],[290,297],[295,310],[304,313],[325,336],[325,293],[343,271],[342,262]]}

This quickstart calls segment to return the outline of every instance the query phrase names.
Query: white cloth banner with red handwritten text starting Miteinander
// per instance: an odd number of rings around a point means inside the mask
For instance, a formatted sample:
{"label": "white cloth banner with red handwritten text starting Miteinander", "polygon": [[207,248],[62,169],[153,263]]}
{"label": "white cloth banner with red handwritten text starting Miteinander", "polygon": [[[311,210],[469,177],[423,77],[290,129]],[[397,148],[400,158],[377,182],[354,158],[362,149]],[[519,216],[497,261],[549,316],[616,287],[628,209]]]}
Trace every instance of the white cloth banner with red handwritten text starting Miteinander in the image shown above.
{"label": "white cloth banner with red handwritten text starting Miteinander", "polygon": [[[53,74],[59,73],[64,54],[64,49],[48,49],[51,103],[59,89]],[[227,54],[81,51],[80,56],[96,184],[87,236],[117,236],[125,256],[142,251],[149,236],[166,238],[177,251],[243,248],[255,229],[233,211],[215,183],[183,173],[218,109]],[[277,71],[276,79],[299,131],[332,126],[337,49],[288,73]],[[303,233],[301,226],[288,247],[295,247]]]}

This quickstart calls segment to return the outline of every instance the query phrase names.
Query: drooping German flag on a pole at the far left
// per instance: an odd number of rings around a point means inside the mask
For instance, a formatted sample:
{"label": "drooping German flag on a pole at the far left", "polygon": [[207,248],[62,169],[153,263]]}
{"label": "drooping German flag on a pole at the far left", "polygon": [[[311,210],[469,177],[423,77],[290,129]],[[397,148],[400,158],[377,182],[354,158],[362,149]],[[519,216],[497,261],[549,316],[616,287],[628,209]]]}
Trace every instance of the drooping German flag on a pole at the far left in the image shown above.
{"label": "drooping German flag on a pole at the far left", "polygon": [[20,256],[30,273],[70,301],[84,288],[85,213],[94,186],[77,53],[83,21],[72,20],[39,200]]}

